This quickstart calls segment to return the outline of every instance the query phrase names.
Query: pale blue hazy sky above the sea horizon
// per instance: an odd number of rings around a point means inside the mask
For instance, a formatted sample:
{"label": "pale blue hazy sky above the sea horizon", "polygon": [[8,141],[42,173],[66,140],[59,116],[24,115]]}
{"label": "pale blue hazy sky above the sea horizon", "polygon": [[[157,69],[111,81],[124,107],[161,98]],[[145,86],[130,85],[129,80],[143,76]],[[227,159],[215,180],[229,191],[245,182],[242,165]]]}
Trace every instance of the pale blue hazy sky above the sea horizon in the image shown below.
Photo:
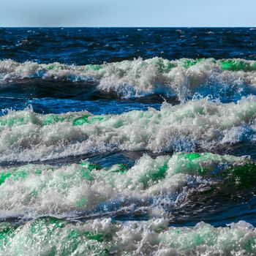
{"label": "pale blue hazy sky above the sea horizon", "polygon": [[256,26],[256,0],[1,0],[0,26]]}

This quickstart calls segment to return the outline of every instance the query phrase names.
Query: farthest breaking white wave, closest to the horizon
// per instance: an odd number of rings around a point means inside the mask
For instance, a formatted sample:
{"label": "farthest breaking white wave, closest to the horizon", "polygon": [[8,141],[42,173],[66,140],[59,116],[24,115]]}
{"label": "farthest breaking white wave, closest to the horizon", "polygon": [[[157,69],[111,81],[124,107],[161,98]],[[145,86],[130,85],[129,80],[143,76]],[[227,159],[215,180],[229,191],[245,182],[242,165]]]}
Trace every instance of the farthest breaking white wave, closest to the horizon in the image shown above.
{"label": "farthest breaking white wave, closest to the horizon", "polygon": [[[244,59],[135,59],[85,66],[59,63],[38,64],[26,61],[0,61],[0,83],[49,82],[65,80],[94,86],[118,97],[143,97],[151,94],[176,95],[183,100],[200,86],[218,93],[235,94],[244,88],[256,88],[256,61]],[[219,86],[219,87],[218,87]],[[224,91],[224,92],[223,92]]]}

